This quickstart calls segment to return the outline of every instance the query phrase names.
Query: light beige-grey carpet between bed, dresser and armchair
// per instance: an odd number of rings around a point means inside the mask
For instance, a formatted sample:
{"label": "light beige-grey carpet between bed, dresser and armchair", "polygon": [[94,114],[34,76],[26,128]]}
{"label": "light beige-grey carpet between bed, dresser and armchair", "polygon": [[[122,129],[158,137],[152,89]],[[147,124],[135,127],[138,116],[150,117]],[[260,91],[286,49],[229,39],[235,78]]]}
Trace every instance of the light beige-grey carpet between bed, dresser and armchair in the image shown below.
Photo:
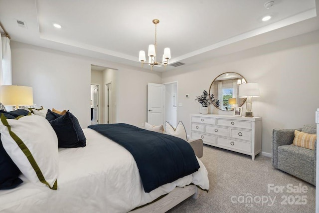
{"label": "light beige-grey carpet between bed, dresser and armchair", "polygon": [[[204,145],[209,192],[168,213],[314,213],[316,187],[275,169],[271,158]],[[292,162],[294,163],[294,162]]]}

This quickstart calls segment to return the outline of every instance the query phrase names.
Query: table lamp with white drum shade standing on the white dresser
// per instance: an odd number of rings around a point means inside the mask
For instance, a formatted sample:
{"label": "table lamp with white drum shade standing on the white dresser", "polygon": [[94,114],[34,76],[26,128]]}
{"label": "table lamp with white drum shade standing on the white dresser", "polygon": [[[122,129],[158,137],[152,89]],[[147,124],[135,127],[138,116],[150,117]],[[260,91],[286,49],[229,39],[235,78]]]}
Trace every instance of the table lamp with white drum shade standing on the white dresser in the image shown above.
{"label": "table lamp with white drum shade standing on the white dresser", "polygon": [[260,96],[258,83],[240,84],[238,96],[241,98],[247,98],[247,101],[246,101],[247,112],[245,117],[254,117],[253,112],[251,111],[251,106],[252,106],[251,98]]}

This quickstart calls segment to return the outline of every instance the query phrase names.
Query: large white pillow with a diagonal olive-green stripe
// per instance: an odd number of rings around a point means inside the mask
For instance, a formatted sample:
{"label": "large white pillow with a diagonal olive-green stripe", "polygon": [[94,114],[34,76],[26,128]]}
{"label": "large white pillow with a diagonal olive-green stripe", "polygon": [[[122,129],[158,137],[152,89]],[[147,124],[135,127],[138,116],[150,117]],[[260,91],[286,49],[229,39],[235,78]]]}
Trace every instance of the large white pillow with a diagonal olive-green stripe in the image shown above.
{"label": "large white pillow with a diagonal olive-green stripe", "polygon": [[3,148],[30,182],[57,189],[58,139],[45,118],[29,114],[6,119],[1,114],[0,134]]}

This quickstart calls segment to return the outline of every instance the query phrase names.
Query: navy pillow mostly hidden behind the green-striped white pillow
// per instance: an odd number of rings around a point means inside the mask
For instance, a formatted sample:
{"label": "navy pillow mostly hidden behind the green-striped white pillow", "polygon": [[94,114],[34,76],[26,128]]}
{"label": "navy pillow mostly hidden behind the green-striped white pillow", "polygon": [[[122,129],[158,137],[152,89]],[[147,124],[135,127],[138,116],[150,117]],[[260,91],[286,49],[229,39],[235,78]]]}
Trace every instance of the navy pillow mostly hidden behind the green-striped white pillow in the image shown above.
{"label": "navy pillow mostly hidden behind the green-striped white pillow", "polygon": [[[28,114],[28,111],[24,110],[26,112],[26,115]],[[4,112],[3,110],[0,111],[4,114],[6,118],[12,118],[18,117],[19,115],[24,115],[24,112],[21,110],[15,110],[11,112]],[[2,142],[0,140],[0,190],[8,190],[13,189],[20,185],[23,181],[19,179],[19,175],[21,174],[20,170],[17,168],[17,166],[13,163],[11,158],[8,156],[6,151],[4,150],[2,146]]]}

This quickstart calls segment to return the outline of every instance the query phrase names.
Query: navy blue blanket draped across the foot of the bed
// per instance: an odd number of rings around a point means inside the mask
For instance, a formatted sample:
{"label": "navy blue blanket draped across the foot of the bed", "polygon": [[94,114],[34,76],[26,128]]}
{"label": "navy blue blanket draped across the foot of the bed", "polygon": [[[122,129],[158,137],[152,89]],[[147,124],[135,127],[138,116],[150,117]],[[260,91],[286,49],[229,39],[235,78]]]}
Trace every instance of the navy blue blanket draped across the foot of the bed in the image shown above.
{"label": "navy blue blanket draped across the foot of the bed", "polygon": [[122,123],[88,128],[117,142],[133,155],[146,193],[200,167],[193,149],[183,139]]}

